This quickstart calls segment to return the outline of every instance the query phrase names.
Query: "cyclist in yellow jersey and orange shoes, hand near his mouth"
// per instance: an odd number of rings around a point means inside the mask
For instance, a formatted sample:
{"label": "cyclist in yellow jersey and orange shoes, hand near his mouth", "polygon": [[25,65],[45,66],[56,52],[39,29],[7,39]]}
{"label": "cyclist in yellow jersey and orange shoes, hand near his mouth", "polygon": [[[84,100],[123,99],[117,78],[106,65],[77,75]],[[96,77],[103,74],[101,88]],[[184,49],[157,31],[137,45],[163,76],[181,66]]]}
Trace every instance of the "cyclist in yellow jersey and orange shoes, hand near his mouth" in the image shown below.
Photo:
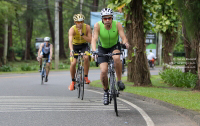
{"label": "cyclist in yellow jersey and orange shoes, hand near his mouth", "polygon": [[[84,23],[84,15],[75,14],[73,16],[74,23],[69,29],[69,48],[70,48],[70,56],[73,56],[74,52],[85,52],[89,51],[90,48],[88,43],[91,43],[92,35],[90,26]],[[76,59],[78,56],[74,56],[73,62],[70,65],[70,74],[72,78],[72,82],[69,86],[69,90],[74,90],[75,85],[75,73],[76,73]],[[88,79],[89,72],[89,56],[84,56],[84,74],[85,74],[85,82],[86,84],[90,83]]]}

